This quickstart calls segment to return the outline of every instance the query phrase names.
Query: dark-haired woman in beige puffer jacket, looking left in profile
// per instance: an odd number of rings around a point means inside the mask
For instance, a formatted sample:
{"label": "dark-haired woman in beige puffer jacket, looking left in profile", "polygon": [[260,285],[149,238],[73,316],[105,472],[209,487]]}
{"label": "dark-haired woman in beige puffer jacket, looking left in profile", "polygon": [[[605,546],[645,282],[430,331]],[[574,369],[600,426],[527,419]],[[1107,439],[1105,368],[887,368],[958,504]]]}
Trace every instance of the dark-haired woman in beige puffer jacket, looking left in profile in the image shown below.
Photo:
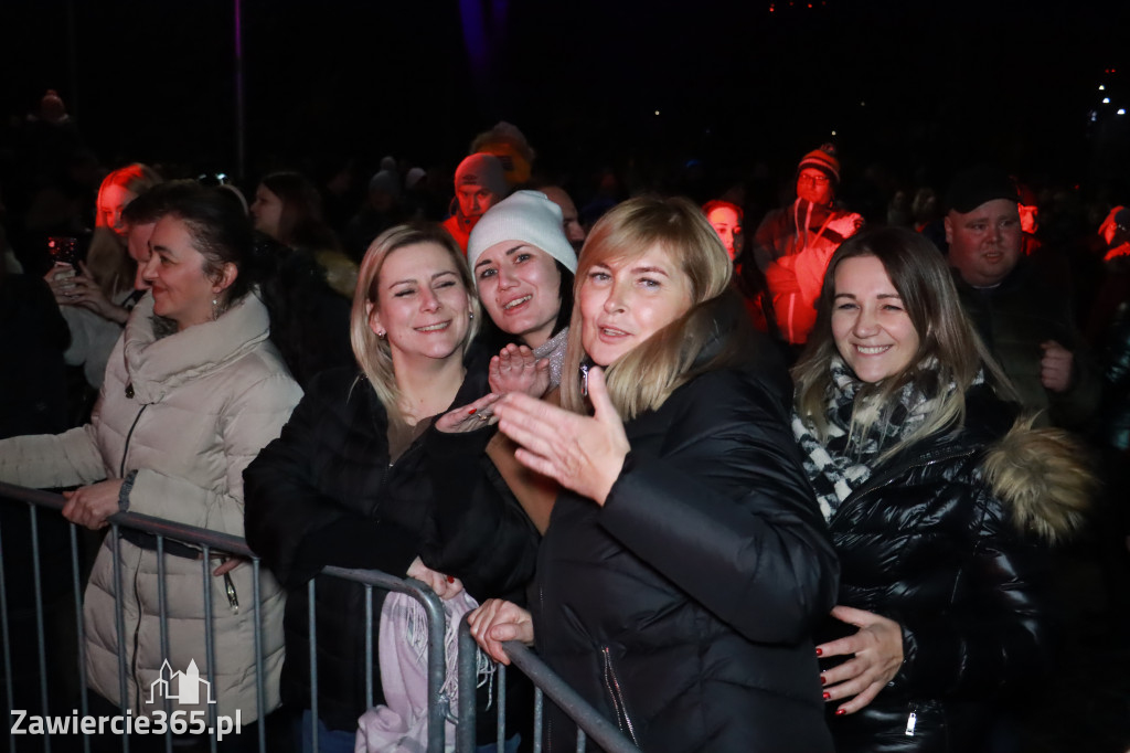
{"label": "dark-haired woman in beige puffer jacket, looking left in profile", "polygon": [[[302,391],[269,340],[243,213],[199,187],[166,199],[147,263],[155,295],[142,297],[127,322],[90,424],[0,442],[0,479],[77,485],[63,493],[63,516],[92,529],[105,529],[110,516],[129,510],[240,536],[243,468],[278,435]],[[282,641],[272,638],[278,631],[271,625],[281,622],[282,591],[267,573],[257,582],[249,564],[232,560],[206,569],[195,549],[166,544],[164,552],[159,557],[156,538],[137,529],[115,528],[105,537],[84,604],[87,682],[127,708],[162,676],[163,665],[182,672],[195,661],[201,676],[214,681],[217,712],[240,711],[250,724],[258,700],[268,711],[279,703],[272,667],[281,660]],[[119,568],[129,573],[127,588],[120,587]],[[167,629],[176,637],[167,656],[158,592],[167,595]],[[201,594],[211,595],[210,604]],[[123,613],[127,633],[119,634],[115,616]],[[251,640],[259,618],[267,635],[262,647]],[[215,664],[208,666],[212,639]],[[260,659],[268,667],[261,699],[254,669]],[[124,696],[120,666],[129,667]],[[173,710],[203,712],[186,699]]]}

